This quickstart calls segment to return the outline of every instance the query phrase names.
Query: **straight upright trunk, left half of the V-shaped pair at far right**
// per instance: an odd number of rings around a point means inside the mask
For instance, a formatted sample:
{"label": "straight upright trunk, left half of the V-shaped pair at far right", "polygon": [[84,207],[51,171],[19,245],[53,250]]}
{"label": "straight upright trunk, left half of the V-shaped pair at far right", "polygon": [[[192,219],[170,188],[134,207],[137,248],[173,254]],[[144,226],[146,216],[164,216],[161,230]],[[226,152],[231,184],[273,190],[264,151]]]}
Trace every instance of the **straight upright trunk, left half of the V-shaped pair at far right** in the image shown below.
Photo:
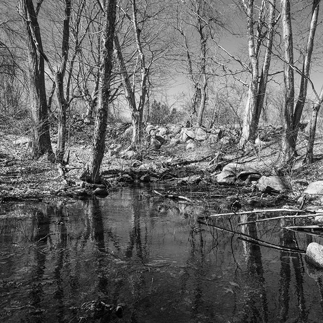
{"label": "straight upright trunk, left half of the V-shaped pair at far right", "polygon": [[294,65],[293,34],[291,23],[290,0],[282,0],[282,24],[284,43],[284,133],[282,143],[282,158],[285,163],[294,157],[296,142],[293,140],[293,115],[294,115]]}

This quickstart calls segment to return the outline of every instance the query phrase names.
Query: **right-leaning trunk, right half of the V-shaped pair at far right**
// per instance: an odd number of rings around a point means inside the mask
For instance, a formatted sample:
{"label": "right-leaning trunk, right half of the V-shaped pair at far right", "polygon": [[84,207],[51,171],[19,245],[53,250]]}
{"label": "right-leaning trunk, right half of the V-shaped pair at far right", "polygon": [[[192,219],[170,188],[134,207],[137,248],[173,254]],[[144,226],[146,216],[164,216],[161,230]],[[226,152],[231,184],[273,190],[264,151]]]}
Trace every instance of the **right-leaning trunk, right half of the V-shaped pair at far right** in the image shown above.
{"label": "right-leaning trunk, right half of the V-shaped pair at far right", "polygon": [[303,112],[306,95],[307,95],[307,84],[308,84],[308,77],[310,74],[310,64],[311,64],[313,47],[314,47],[314,37],[315,37],[315,31],[317,26],[319,3],[320,3],[320,0],[313,1],[312,18],[311,18],[310,28],[308,33],[306,54],[305,54],[304,63],[303,63],[303,75],[301,76],[300,89],[299,89],[298,99],[297,99],[295,112],[293,116],[293,128],[294,128],[293,140],[295,141],[294,143],[295,147],[297,142],[299,123],[301,120],[301,115]]}

